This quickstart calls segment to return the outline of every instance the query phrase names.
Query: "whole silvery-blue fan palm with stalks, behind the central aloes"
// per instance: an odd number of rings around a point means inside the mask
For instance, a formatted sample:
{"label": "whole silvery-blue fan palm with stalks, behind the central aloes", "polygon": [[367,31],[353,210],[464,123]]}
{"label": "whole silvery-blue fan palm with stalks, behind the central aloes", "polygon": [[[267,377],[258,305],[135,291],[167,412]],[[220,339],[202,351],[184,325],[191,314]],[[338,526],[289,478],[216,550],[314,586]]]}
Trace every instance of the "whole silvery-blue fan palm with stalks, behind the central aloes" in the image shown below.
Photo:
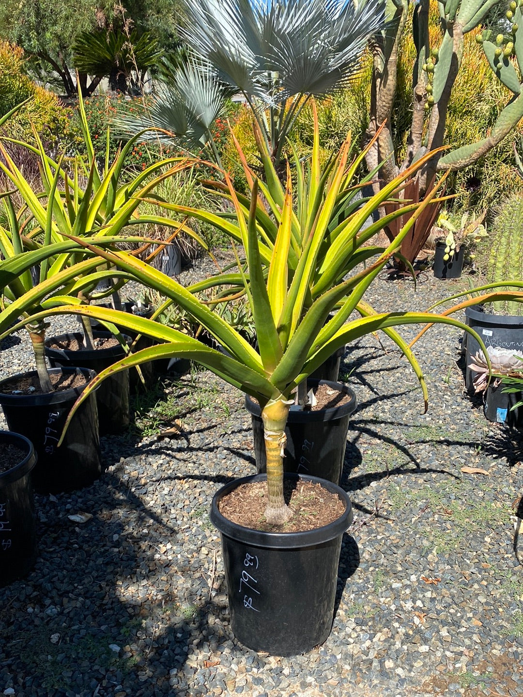
{"label": "whole silvery-blue fan palm with stalks, behind the central aloes", "polygon": [[212,146],[209,117],[218,115],[228,86],[244,95],[276,167],[307,100],[342,89],[359,70],[368,38],[384,27],[382,0],[183,0],[183,5],[180,34],[205,70],[198,74],[189,62],[162,88],[150,118],[120,120],[120,126],[135,133],[154,124],[185,137],[197,123],[205,125]]}

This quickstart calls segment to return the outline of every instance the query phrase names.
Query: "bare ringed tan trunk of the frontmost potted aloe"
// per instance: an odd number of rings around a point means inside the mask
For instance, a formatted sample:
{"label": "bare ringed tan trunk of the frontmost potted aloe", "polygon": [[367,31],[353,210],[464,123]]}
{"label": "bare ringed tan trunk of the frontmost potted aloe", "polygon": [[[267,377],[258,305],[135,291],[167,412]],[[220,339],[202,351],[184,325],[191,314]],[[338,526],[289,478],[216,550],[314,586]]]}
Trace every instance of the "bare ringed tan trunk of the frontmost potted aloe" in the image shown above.
{"label": "bare ringed tan trunk of the frontmost potted aloe", "polygon": [[267,455],[267,494],[265,509],[267,523],[283,525],[292,517],[292,511],[283,498],[283,449],[286,444],[285,427],[293,401],[270,401],[261,413]]}

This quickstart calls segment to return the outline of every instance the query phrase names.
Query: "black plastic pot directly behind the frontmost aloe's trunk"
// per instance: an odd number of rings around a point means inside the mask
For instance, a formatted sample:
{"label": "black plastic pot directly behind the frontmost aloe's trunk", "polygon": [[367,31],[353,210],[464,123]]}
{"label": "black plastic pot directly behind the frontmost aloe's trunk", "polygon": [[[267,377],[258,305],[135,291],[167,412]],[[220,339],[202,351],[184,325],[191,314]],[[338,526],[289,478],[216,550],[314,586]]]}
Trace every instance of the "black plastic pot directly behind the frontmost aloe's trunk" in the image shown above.
{"label": "black plastic pot directly behind the frontmost aloe's trunk", "polygon": [[[357,399],[354,392],[341,383],[328,380],[307,381],[308,387],[316,387],[318,384],[329,385],[334,390],[345,392],[346,395],[350,395],[350,402],[319,411],[299,411],[291,407],[285,429],[287,444],[283,469],[286,472],[320,477],[339,484],[350,415],[357,406]],[[263,473],[267,470],[267,459],[260,406],[249,396],[245,397],[245,406],[252,418],[256,470]]]}

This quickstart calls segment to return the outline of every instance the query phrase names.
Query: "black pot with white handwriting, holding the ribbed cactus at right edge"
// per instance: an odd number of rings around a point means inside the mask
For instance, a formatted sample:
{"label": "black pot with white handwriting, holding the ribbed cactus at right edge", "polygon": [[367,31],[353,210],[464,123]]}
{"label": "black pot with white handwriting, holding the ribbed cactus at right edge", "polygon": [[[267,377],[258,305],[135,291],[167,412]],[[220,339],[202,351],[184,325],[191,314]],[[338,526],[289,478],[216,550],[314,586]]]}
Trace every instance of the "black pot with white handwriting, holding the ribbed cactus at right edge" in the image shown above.
{"label": "black pot with white handwriting, holding the ribbed cactus at right edge", "polygon": [[[476,330],[485,346],[492,348],[506,348],[514,353],[523,353],[523,316],[506,316],[488,314],[483,305],[465,308],[467,325]],[[481,351],[478,342],[473,336],[467,334],[465,339],[465,387],[469,392],[474,391],[474,378],[476,372],[469,368],[471,358]]]}

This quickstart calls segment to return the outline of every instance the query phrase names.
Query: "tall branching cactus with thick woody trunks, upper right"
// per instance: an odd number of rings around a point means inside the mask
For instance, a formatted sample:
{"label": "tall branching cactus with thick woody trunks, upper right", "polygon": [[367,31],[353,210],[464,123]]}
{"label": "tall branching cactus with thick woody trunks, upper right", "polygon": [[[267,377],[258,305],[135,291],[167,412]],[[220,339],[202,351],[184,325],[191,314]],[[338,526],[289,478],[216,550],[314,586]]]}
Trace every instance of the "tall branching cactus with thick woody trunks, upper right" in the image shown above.
{"label": "tall branching cactus with thick woody trunks, upper right", "polygon": [[[451,92],[458,76],[463,56],[465,34],[481,26],[492,7],[506,0],[445,0],[439,1],[439,16],[443,38],[439,46],[430,46],[430,0],[414,2],[412,31],[416,47],[413,69],[412,125],[407,140],[407,152],[403,162],[394,158],[392,139],[392,107],[396,92],[396,68],[400,39],[408,26],[407,18],[412,5],[408,0],[388,0],[390,24],[373,40],[373,91],[370,105],[370,123],[367,136],[372,137],[384,121],[386,127],[373,151],[368,156],[368,166],[387,160],[382,169],[384,181],[390,181],[398,171],[409,167],[426,151],[444,145],[446,114]],[[421,192],[426,189],[437,171],[458,170],[476,162],[487,151],[504,139],[523,117],[523,96],[520,75],[523,68],[523,0],[507,3],[506,34],[492,36],[483,31],[478,35],[486,59],[499,81],[512,93],[499,114],[490,134],[481,141],[438,154],[421,171]],[[521,29],[520,29],[521,28]],[[520,68],[516,69],[515,66]]]}

